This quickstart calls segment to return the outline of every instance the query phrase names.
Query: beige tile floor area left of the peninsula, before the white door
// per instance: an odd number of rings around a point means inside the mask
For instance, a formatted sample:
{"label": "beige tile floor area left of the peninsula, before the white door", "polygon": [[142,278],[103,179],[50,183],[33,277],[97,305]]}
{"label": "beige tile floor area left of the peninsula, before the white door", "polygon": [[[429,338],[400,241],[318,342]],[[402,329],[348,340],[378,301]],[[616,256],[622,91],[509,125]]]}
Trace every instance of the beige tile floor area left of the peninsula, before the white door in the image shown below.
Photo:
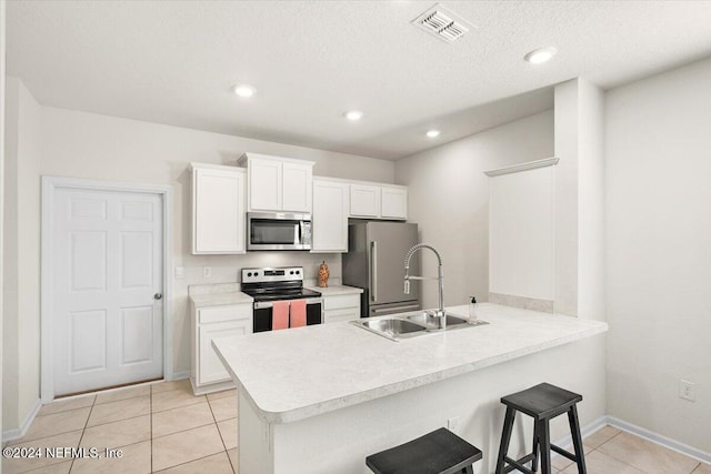
{"label": "beige tile floor area left of the peninsula, before the white door", "polygon": [[2,473],[210,473],[237,471],[237,393],[194,396],[163,382],[42,406],[17,447],[118,448],[121,458],[2,458]]}

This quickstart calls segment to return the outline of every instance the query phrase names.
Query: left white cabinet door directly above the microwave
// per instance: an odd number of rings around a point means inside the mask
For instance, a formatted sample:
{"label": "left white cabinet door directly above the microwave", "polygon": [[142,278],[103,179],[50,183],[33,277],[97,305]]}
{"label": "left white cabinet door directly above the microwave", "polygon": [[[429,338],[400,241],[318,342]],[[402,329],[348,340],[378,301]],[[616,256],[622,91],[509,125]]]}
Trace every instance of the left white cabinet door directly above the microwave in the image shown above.
{"label": "left white cabinet door directly above the microwave", "polygon": [[251,159],[249,161],[250,211],[282,210],[281,164],[277,160]]}

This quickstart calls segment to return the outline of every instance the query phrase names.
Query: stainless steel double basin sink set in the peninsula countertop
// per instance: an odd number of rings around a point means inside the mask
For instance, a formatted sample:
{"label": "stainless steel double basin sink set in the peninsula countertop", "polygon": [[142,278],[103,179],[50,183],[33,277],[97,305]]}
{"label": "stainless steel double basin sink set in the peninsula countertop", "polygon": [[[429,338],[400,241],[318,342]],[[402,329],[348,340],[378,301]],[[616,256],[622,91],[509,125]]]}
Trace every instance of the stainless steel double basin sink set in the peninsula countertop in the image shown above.
{"label": "stainless steel double basin sink set in the peninsula countertop", "polygon": [[438,316],[433,311],[421,311],[391,316],[364,317],[351,321],[351,323],[383,337],[388,337],[391,341],[417,337],[420,335],[431,334],[433,332],[449,332],[489,324],[485,321],[469,320],[467,317],[445,313],[445,329],[440,330],[437,327],[437,317]]}

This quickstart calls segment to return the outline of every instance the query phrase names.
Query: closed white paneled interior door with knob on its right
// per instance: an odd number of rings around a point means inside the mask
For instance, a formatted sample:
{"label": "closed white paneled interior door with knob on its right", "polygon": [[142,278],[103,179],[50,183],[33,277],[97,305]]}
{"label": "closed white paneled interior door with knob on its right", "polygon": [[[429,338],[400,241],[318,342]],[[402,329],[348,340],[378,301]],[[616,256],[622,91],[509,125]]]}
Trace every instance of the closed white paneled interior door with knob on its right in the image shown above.
{"label": "closed white paneled interior door with knob on its right", "polygon": [[161,377],[161,195],[68,188],[54,195],[54,395]]}

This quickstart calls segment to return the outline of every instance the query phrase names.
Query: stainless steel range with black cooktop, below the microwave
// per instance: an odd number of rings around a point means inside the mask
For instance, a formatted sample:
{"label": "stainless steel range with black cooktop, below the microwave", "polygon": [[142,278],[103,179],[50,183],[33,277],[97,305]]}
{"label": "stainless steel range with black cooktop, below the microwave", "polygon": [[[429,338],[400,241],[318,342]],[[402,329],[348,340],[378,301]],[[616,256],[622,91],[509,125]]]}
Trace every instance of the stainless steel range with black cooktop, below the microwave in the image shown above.
{"label": "stainless steel range with black cooktop, below the microwave", "polygon": [[254,299],[253,331],[272,330],[272,306],[276,301],[306,300],[307,325],[321,324],[321,293],[303,288],[303,268],[283,266],[242,269],[242,292]]}

